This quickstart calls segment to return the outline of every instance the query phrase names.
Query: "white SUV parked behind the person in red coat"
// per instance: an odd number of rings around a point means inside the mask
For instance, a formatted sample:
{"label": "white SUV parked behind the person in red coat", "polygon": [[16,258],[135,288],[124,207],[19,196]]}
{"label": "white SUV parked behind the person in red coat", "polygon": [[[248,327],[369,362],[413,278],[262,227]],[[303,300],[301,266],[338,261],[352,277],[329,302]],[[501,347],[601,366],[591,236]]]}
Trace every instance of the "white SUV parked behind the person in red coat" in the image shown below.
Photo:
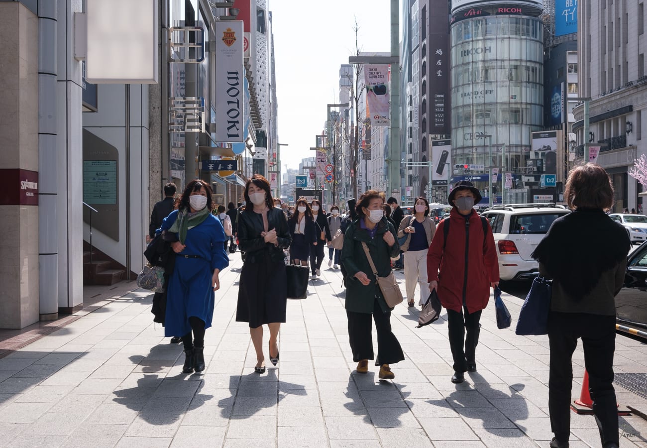
{"label": "white SUV parked behind the person in red coat", "polygon": [[490,221],[494,233],[501,280],[536,277],[539,263],[530,254],[553,221],[569,213],[570,210],[554,203],[495,205],[481,213]]}

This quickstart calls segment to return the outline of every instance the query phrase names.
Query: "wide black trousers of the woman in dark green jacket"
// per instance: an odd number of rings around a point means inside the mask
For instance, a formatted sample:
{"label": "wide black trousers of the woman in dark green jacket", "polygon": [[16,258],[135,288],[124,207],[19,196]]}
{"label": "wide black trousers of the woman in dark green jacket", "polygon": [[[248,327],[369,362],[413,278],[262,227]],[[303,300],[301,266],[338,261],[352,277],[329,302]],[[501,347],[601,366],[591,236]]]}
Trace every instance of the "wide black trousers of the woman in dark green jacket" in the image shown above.
{"label": "wide black trousers of the woman in dark green jacket", "polygon": [[[371,315],[369,313],[355,313],[346,310],[348,317],[348,337],[353,351],[353,361],[358,363],[362,359],[373,359],[373,337],[371,335]],[[400,342],[391,331],[391,311],[384,313],[380,304],[375,299],[373,306],[373,320],[377,330],[377,359],[376,366],[382,364],[395,364],[404,361],[404,353]]]}

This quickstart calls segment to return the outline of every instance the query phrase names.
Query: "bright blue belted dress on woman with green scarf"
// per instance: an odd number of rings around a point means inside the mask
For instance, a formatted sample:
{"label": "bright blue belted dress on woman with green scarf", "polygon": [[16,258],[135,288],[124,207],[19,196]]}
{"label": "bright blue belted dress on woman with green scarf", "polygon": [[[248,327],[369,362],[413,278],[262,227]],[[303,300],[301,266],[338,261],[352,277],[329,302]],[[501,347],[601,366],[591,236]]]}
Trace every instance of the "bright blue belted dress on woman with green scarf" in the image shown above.
{"label": "bright blue belted dress on woman with green scarf", "polygon": [[[161,230],[170,229],[175,219],[177,210],[164,219]],[[222,271],[229,265],[225,240],[225,229],[213,215],[187,231],[186,248],[175,257],[175,269],[168,282],[165,336],[189,333],[189,318],[192,316],[204,320],[204,328],[211,326],[215,304],[214,269]],[[198,255],[200,258],[186,258],[185,255]]]}

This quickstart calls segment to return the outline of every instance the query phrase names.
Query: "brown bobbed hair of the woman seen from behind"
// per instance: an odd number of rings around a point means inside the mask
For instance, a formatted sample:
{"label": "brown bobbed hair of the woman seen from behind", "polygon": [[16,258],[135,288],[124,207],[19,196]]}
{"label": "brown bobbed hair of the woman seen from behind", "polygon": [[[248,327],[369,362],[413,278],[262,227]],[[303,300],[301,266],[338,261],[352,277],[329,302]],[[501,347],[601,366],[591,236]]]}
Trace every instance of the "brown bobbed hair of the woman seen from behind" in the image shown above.
{"label": "brown bobbed hair of the woman seen from behind", "polygon": [[613,185],[602,166],[587,163],[576,166],[569,172],[564,197],[571,209],[608,210],[613,207]]}

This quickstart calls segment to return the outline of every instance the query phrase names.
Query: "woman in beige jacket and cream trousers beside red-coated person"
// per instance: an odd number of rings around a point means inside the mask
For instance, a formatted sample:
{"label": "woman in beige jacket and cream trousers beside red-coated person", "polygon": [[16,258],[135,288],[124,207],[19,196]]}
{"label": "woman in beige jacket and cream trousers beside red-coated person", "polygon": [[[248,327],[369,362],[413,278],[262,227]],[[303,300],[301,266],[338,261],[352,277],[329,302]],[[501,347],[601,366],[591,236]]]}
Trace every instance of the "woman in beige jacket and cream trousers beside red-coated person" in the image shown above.
{"label": "woman in beige jacket and cream trousers beside red-coated person", "polygon": [[429,203],[424,197],[416,197],[415,214],[408,215],[400,221],[398,238],[406,236],[406,241],[400,246],[404,252],[404,284],[409,306],[414,306],[415,285],[420,285],[419,305],[426,302],[429,293],[427,282],[427,252],[432,244],[436,225],[429,218]]}

